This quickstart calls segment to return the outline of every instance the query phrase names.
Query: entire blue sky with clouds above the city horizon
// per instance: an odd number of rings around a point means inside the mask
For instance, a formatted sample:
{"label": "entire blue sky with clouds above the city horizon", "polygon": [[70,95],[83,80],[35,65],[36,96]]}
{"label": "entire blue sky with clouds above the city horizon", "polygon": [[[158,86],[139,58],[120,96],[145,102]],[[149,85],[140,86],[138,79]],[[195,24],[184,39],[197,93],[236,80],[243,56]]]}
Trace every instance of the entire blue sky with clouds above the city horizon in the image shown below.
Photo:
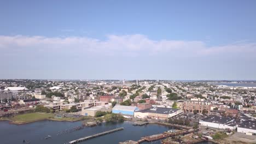
{"label": "entire blue sky with clouds above the city horizon", "polygon": [[0,1],[0,79],[256,80],[256,1]]}

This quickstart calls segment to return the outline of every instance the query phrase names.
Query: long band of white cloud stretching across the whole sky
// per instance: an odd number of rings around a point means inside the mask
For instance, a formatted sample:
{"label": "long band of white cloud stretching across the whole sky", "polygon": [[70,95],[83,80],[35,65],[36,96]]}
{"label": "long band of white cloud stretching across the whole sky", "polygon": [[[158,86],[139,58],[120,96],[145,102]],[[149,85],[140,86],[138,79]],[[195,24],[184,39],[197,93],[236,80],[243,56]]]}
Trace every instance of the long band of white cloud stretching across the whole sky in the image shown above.
{"label": "long band of white cloud stretching across the whole sky", "polygon": [[206,46],[203,41],[151,40],[145,35],[107,35],[107,40],[88,37],[0,36],[0,48],[5,53],[61,52],[67,55],[161,55],[210,56],[219,54],[254,55],[256,43],[240,41],[223,46]]}

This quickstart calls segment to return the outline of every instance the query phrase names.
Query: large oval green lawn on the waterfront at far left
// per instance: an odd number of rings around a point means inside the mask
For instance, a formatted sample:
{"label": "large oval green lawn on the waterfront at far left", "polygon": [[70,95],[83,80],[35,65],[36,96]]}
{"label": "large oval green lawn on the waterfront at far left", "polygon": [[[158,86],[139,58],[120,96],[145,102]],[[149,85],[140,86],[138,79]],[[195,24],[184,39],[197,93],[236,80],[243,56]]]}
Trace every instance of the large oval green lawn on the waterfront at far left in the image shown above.
{"label": "large oval green lawn on the waterfront at far left", "polygon": [[53,113],[25,113],[10,118],[15,124],[31,123],[54,117]]}

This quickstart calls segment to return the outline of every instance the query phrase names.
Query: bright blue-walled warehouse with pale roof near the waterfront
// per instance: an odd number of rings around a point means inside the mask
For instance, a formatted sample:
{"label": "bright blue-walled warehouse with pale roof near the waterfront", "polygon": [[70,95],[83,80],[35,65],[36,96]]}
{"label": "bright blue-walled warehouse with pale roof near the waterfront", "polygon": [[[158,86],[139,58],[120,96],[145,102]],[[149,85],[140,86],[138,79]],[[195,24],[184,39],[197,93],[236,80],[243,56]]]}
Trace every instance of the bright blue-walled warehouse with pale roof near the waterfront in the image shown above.
{"label": "bright blue-walled warehouse with pale roof near the waterfront", "polygon": [[121,113],[122,115],[134,115],[135,111],[138,111],[136,106],[125,106],[125,105],[115,105],[112,109],[112,113]]}

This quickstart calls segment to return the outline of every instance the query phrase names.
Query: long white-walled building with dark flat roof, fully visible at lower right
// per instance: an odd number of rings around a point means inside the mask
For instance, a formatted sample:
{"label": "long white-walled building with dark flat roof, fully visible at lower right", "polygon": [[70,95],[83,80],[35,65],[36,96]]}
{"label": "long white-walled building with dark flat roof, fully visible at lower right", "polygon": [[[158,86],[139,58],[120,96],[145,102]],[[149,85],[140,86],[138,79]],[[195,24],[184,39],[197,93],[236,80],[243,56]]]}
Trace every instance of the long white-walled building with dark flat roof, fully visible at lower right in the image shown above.
{"label": "long white-walled building with dark flat roof, fully visible at lower right", "polygon": [[199,120],[199,124],[206,127],[218,129],[236,129],[236,122],[234,118],[211,116]]}

